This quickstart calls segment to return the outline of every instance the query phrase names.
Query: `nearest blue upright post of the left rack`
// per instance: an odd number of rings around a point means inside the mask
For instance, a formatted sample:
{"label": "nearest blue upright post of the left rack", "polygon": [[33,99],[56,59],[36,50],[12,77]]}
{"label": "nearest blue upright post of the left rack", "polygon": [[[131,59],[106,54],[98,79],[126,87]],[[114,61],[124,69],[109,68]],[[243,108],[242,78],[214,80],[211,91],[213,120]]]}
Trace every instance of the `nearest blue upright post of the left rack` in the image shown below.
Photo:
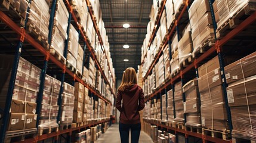
{"label": "nearest blue upright post of the left rack", "polygon": [[[31,0],[29,0],[28,3],[30,5]],[[27,24],[27,20],[28,20],[28,16],[29,16],[29,11],[30,11],[30,7],[27,7],[27,13],[26,13],[26,18],[25,18],[25,23],[24,23],[24,30],[26,30],[26,24]],[[23,37],[24,33],[22,33],[20,36]],[[13,98],[13,89],[14,89],[14,84],[15,84],[15,80],[16,80],[17,70],[18,70],[18,61],[20,60],[21,49],[23,46],[23,40],[24,39],[21,39],[16,46],[13,69],[11,70],[11,78],[10,78],[10,82],[9,82],[7,98],[5,101],[4,116],[2,119],[2,125],[1,125],[1,130],[0,130],[0,142],[4,142],[4,139],[5,139],[5,132],[6,132],[8,120],[9,120],[11,100]]]}

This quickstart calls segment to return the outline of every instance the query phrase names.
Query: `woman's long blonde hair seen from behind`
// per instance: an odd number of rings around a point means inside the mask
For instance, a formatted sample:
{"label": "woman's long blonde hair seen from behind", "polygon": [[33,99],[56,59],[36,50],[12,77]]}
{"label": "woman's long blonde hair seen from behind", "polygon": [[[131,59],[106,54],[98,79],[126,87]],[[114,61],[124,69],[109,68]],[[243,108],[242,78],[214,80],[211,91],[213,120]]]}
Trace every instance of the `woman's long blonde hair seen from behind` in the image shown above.
{"label": "woman's long blonde hair seen from behind", "polygon": [[128,67],[123,74],[122,82],[118,88],[118,91],[124,91],[128,86],[137,84],[137,81],[135,70],[132,67]]}

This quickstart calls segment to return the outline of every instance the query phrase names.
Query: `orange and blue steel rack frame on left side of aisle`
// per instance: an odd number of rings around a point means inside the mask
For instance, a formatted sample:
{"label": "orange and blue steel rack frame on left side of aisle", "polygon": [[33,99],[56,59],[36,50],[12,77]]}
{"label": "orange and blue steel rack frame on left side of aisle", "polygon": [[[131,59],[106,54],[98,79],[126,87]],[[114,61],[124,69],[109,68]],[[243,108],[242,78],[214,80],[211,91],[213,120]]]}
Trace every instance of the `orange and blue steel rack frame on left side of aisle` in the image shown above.
{"label": "orange and blue steel rack frame on left side of aisle", "polygon": [[[112,89],[112,86],[110,85],[109,81],[107,80],[106,75],[104,74],[103,70],[100,67],[100,63],[98,62],[97,58],[95,57],[94,51],[90,46],[90,43],[88,43],[87,37],[84,35],[84,33],[82,32],[81,27],[78,24],[78,20],[75,17],[75,14],[72,11],[71,5],[69,4],[69,1],[67,0],[63,0],[64,2],[66,2],[67,5],[67,9],[69,10],[69,21],[68,21],[68,26],[70,25],[70,21],[73,18],[73,20],[75,21],[75,23],[78,26],[79,29],[79,33],[82,35],[82,37],[84,38],[84,58],[85,58],[85,48],[88,48],[90,53],[89,55],[92,56],[92,59],[95,61],[97,68],[101,71],[101,76],[103,76],[105,82],[110,86],[110,91],[112,92],[112,94],[115,97],[115,92]],[[53,18],[54,18],[54,14],[55,14],[55,7],[56,7],[56,2],[57,0],[53,0],[53,4],[52,4],[52,11],[50,14],[50,26],[49,26],[49,38],[48,38],[48,42],[51,42],[51,33],[53,31]],[[31,0],[29,0],[29,4],[31,4]],[[89,5],[89,3],[87,2],[87,4]],[[97,98],[101,98],[101,100],[103,100],[106,104],[110,104],[112,105],[112,101],[107,100],[105,97],[103,97],[103,95],[101,95],[99,92],[95,91],[94,88],[92,88],[90,85],[88,85],[88,83],[85,83],[83,79],[81,79],[80,77],[76,76],[75,73],[73,73],[73,71],[67,69],[66,64],[61,63],[61,61],[57,60],[57,58],[55,58],[53,55],[50,54],[50,51],[47,50],[47,47],[43,47],[42,45],[40,45],[32,36],[30,36],[29,34],[26,33],[26,23],[27,23],[27,17],[29,14],[30,8],[27,8],[27,14],[26,14],[26,20],[25,20],[25,27],[19,27],[16,23],[14,23],[13,20],[11,20],[10,17],[8,17],[3,11],[0,11],[0,20],[5,23],[6,26],[10,27],[10,29],[16,33],[18,35],[18,43],[15,49],[15,58],[14,58],[14,65],[13,65],[13,70],[11,71],[11,79],[10,79],[10,85],[8,88],[8,95],[7,95],[7,101],[6,101],[6,105],[5,105],[5,109],[4,109],[4,115],[3,116],[3,120],[2,120],[2,126],[1,126],[1,142],[4,142],[5,139],[5,130],[7,129],[7,125],[8,125],[8,118],[9,118],[9,110],[10,110],[10,106],[11,106],[11,99],[13,97],[13,89],[14,89],[14,82],[16,80],[16,74],[17,74],[17,69],[18,69],[18,60],[20,58],[21,55],[21,49],[23,48],[23,43],[24,42],[28,42],[29,45],[31,45],[34,49],[36,49],[36,51],[38,51],[41,55],[41,57],[44,57],[44,66],[42,68],[42,73],[41,73],[41,83],[40,83],[40,88],[39,88],[39,94],[38,94],[38,99],[37,99],[37,107],[36,107],[36,113],[40,114],[40,110],[41,109],[41,101],[42,101],[42,92],[44,89],[44,79],[45,79],[45,75],[48,69],[48,66],[50,67],[50,65],[48,65],[48,62],[50,61],[51,63],[54,64],[54,66],[57,66],[59,69],[61,69],[61,84],[63,84],[64,82],[64,78],[65,76],[69,76],[72,77],[73,83],[75,82],[80,82],[82,83],[82,85],[84,85],[86,88],[88,88],[88,90],[90,91],[91,95],[94,95],[94,97]],[[90,13],[91,17],[93,17],[92,13]],[[97,29],[97,25],[95,25],[95,20],[94,20],[94,27],[95,29]],[[67,35],[68,35],[69,30],[67,30]],[[100,35],[100,33],[97,31],[97,34]],[[67,38],[68,39],[68,38]],[[66,41],[67,42],[67,41]],[[102,44],[102,39],[101,39],[101,44]],[[25,51],[25,49],[24,49]],[[105,53],[106,54],[106,53]],[[64,47],[64,57],[66,58],[67,56],[67,46]],[[84,61],[84,60],[83,60]],[[85,61],[84,61],[85,62]],[[109,66],[109,61],[107,62],[108,66]],[[109,66],[110,68],[110,66]],[[84,70],[82,71],[84,72]],[[112,74],[113,77],[113,74]],[[115,80],[115,79],[114,79]],[[63,91],[63,87],[61,86],[60,89],[60,94],[59,94],[59,98],[58,98],[58,105],[60,107],[60,110],[58,111],[58,118],[57,120],[60,120],[60,113],[61,113],[61,94]],[[37,117],[37,124],[36,127],[38,127],[38,120],[39,120],[39,116]],[[104,119],[101,121],[92,121],[91,123],[89,123],[88,125],[85,126],[81,126],[81,127],[77,127],[77,128],[71,128],[71,129],[64,129],[64,130],[58,130],[58,132],[53,132],[53,133],[48,133],[48,134],[44,134],[41,136],[35,136],[35,138],[31,138],[31,139],[26,139],[25,141],[21,141],[21,142],[38,142],[38,141],[44,141],[45,139],[48,138],[54,138],[54,141],[57,142],[58,138],[60,135],[63,135],[64,133],[68,133],[68,141],[70,141],[70,136],[72,134],[73,131],[79,131],[82,129],[86,129],[86,128],[90,128],[91,126],[95,126],[98,125],[100,123],[104,123],[104,122],[109,122],[109,119]]]}

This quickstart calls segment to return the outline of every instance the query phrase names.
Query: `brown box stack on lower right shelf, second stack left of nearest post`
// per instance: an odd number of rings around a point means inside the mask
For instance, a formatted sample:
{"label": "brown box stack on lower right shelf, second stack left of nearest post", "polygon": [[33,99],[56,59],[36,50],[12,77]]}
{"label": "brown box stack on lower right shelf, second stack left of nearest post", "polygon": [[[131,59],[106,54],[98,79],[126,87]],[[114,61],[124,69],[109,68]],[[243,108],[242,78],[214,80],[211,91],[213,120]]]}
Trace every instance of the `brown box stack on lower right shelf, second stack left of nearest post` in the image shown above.
{"label": "brown box stack on lower right shelf, second stack left of nearest post", "polygon": [[198,80],[193,79],[183,86],[186,102],[184,102],[184,113],[186,113],[186,126],[201,127],[201,115],[199,106]]}

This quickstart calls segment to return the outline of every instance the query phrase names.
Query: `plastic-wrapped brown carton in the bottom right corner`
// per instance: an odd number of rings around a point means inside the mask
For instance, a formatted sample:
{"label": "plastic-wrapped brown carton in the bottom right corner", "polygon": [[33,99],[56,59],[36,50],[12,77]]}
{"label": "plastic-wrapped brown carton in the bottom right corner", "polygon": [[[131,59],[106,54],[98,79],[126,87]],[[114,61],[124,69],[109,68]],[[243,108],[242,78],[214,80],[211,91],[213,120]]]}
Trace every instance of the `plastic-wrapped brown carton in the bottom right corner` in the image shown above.
{"label": "plastic-wrapped brown carton in the bottom right corner", "polygon": [[256,105],[231,107],[232,136],[236,138],[256,139]]}

